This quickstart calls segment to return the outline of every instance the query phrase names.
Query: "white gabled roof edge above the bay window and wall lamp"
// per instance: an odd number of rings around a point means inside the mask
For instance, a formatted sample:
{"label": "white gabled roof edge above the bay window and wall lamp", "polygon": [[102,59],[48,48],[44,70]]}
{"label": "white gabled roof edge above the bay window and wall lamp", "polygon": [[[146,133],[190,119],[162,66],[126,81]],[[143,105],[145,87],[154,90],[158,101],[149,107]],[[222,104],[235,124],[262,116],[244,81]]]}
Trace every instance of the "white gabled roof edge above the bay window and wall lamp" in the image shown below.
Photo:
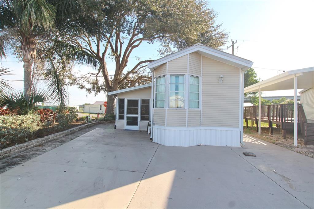
{"label": "white gabled roof edge above the bay window and wall lamp", "polygon": [[211,59],[224,62],[226,64],[242,68],[242,70],[247,70],[250,67],[252,67],[253,62],[250,60],[243,59],[239,56],[235,56],[232,54],[229,54],[224,51],[220,51],[217,49],[214,49],[209,46],[205,46],[203,44],[195,44],[193,46],[187,47],[183,50],[174,52],[172,54],[169,54],[167,56],[164,56],[158,60],[154,60],[152,62],[149,62],[147,66],[149,67],[150,71],[154,71],[157,67],[159,67],[161,64],[164,64],[166,62],[169,62],[171,60],[174,60],[178,57],[190,54],[192,52],[198,52],[199,54],[209,57]]}

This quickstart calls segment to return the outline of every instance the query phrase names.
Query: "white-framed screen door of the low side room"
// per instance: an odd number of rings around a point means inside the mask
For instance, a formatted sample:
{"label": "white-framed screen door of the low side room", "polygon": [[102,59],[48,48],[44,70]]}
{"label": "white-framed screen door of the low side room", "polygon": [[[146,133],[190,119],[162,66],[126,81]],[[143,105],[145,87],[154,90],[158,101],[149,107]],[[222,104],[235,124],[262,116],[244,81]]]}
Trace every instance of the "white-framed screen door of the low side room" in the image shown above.
{"label": "white-framed screen door of the low side room", "polygon": [[127,99],[125,129],[138,130],[138,99]]}

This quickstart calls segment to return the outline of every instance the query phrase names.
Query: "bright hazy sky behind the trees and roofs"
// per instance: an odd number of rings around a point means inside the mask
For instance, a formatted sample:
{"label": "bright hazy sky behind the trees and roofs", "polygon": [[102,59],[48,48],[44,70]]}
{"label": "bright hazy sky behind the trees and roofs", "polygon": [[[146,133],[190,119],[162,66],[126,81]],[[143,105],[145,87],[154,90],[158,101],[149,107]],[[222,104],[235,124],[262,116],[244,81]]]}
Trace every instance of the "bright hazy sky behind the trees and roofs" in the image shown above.
{"label": "bright hazy sky behind the trees and roofs", "polygon": [[[254,62],[257,77],[265,80],[284,71],[314,66],[314,1],[209,1],[217,13],[216,22],[229,32],[223,51],[231,53],[231,39],[237,40],[235,55]],[[126,68],[143,59],[158,59],[159,44],[143,43],[130,57]],[[14,75],[8,80],[23,80],[23,64],[14,56],[1,61]],[[114,62],[108,62],[109,75]],[[95,72],[86,66],[76,66],[78,75]],[[79,72],[78,72],[79,71]],[[11,82],[14,89],[22,89],[23,82]],[[93,104],[104,101],[105,94],[86,94],[76,86],[69,86],[69,105]],[[288,96],[293,90],[263,92],[263,96]]]}

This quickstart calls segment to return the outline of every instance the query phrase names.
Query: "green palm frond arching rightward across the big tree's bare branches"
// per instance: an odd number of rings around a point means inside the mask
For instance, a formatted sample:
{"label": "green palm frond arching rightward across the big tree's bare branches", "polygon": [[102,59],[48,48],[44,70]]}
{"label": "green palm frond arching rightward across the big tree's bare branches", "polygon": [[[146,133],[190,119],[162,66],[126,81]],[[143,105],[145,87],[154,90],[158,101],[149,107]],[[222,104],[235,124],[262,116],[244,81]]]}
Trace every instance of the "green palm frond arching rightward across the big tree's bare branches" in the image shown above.
{"label": "green palm frond arching rightward across the big tree's bare branches", "polygon": [[99,62],[91,54],[84,51],[82,48],[73,46],[64,41],[55,40],[53,50],[60,57],[67,57],[68,59],[74,59],[80,64],[86,64],[88,66],[98,68]]}

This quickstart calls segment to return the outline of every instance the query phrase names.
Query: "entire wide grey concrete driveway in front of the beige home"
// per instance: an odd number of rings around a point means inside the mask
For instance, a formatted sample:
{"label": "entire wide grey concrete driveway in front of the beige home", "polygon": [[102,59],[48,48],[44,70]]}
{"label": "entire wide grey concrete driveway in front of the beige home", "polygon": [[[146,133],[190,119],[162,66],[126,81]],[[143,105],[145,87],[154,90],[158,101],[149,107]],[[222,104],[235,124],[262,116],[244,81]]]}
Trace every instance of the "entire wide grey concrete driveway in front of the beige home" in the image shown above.
{"label": "entire wide grey concrete driveway in front of the beige home", "polygon": [[166,147],[97,128],[1,174],[1,208],[314,208],[312,158],[244,141]]}

